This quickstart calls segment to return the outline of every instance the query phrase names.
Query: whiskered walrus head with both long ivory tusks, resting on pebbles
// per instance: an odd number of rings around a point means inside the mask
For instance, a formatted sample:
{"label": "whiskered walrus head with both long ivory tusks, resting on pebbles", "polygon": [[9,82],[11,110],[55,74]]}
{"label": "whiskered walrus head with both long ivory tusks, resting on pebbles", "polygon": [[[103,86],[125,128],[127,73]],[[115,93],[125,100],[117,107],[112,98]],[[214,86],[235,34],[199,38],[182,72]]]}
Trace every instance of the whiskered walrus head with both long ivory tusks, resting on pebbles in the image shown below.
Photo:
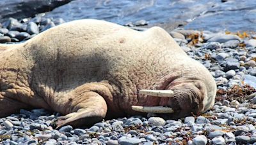
{"label": "whiskered walrus head with both long ivory tusks, resting on pebbles", "polygon": [[178,119],[201,114],[211,108],[216,86],[209,87],[204,81],[188,79],[173,82],[166,90],[140,90],[140,95],[161,97],[159,106],[132,106],[134,111],[156,113],[165,119]]}

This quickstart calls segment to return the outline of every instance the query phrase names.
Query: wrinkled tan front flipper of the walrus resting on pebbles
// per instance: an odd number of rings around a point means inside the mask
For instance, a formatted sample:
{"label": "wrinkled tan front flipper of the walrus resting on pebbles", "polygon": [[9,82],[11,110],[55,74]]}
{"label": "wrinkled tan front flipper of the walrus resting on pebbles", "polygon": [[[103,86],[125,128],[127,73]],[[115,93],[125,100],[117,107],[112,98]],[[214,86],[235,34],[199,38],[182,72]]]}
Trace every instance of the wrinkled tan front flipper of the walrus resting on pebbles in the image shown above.
{"label": "wrinkled tan front flipper of the walrus resting on pebbles", "polygon": [[63,125],[88,126],[104,119],[108,107],[100,93],[105,90],[108,88],[100,83],[86,83],[68,93],[68,103],[63,106],[66,115],[58,118],[57,128]]}

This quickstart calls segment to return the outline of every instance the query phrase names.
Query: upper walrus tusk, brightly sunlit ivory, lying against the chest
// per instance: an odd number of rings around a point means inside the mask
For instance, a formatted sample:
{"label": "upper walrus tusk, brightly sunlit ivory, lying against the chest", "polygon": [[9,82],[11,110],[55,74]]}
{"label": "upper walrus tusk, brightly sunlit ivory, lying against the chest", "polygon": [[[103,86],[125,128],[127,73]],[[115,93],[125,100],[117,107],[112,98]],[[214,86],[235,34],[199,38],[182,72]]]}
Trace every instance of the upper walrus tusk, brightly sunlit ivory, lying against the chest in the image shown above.
{"label": "upper walrus tusk, brightly sunlit ivory, lying against the chest", "polygon": [[140,94],[156,97],[173,97],[174,95],[172,90],[140,90]]}

